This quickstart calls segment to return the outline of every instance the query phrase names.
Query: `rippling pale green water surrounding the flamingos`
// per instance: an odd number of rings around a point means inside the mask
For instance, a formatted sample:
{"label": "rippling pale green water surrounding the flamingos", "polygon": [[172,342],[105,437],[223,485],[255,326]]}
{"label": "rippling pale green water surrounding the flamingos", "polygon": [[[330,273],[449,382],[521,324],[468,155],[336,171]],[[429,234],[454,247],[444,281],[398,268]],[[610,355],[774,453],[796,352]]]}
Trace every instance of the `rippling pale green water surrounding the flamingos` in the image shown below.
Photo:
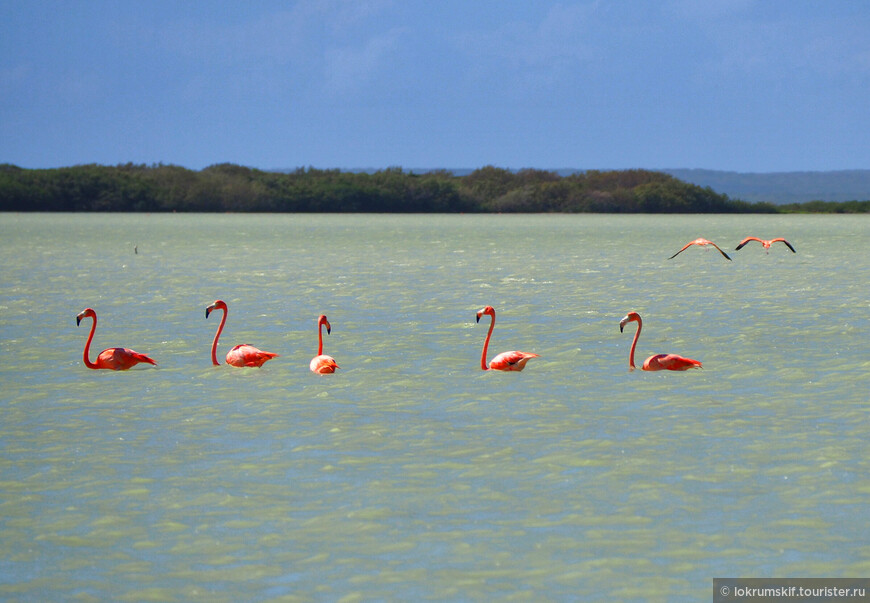
{"label": "rippling pale green water surrounding the flamingos", "polygon": [[[0,596],[703,600],[720,576],[867,576],[868,224],[2,214]],[[746,235],[797,254],[732,252]],[[734,261],[666,259],[699,236]],[[212,367],[217,298],[219,358],[281,357]],[[488,304],[490,357],[541,354],[523,373],[480,371]],[[86,369],[88,306],[92,357],[159,366]],[[629,310],[639,361],[704,368],[629,372]]]}

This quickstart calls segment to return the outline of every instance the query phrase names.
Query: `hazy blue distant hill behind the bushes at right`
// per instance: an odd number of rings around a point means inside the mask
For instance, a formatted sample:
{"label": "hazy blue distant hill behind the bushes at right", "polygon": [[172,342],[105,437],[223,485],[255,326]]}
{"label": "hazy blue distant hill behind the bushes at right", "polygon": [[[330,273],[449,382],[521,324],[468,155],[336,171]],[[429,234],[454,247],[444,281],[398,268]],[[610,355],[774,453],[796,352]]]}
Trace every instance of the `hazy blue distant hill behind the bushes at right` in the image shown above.
{"label": "hazy blue distant hill behind the bushes at right", "polygon": [[690,184],[710,187],[732,199],[750,203],[806,203],[807,201],[866,201],[870,199],[870,170],[831,172],[771,172],[767,174],[716,170],[660,170]]}

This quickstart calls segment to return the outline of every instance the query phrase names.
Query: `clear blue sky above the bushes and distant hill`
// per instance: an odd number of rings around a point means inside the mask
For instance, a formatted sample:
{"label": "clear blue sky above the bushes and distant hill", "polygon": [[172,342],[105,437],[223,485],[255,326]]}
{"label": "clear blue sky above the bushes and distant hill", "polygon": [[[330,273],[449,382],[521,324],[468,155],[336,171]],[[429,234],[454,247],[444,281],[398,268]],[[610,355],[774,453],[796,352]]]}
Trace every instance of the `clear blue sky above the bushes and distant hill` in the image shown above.
{"label": "clear blue sky above the bushes and distant hill", "polygon": [[870,168],[870,3],[0,0],[0,162]]}

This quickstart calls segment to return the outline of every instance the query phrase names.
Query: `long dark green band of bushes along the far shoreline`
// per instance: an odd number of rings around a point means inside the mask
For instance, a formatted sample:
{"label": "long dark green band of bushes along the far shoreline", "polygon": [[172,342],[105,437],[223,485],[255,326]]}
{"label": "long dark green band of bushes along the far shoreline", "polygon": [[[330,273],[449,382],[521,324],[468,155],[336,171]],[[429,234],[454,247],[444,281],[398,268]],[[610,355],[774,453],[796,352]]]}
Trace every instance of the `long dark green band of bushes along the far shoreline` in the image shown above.
{"label": "long dark green band of bushes along the far shoreline", "polygon": [[[808,204],[809,205],[809,204]],[[746,203],[647,170],[511,171],[466,175],[389,168],[374,173],[300,168],[265,172],[233,164],[80,165],[29,170],[0,165],[0,211],[118,212],[599,212],[777,213],[868,211],[867,202],[812,209]]]}

